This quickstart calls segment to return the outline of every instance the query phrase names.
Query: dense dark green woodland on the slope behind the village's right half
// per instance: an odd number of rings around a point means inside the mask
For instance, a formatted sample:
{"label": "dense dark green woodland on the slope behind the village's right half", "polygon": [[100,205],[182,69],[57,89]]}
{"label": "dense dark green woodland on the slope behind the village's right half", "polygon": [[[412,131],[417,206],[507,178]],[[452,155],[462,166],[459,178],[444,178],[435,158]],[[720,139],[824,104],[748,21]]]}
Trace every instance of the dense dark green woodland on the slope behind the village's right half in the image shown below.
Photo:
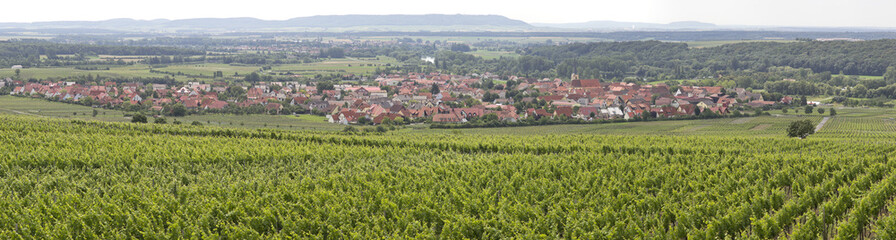
{"label": "dense dark green woodland on the slope behind the village's right half", "polygon": [[599,42],[536,46],[518,52],[526,57],[483,60],[463,53],[442,53],[439,67],[544,77],[576,72],[582,78],[665,80],[766,72],[780,66],[880,76],[887,67],[896,66],[896,40],[756,42],[710,48],[660,41]]}

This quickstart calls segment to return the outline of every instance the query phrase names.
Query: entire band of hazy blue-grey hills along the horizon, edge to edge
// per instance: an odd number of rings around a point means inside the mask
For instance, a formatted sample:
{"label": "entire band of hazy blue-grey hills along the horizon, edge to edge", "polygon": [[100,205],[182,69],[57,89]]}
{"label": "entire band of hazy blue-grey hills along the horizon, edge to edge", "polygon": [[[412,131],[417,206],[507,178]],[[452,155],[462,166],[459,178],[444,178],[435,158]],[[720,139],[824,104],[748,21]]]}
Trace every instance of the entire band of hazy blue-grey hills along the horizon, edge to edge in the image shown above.
{"label": "entire band of hazy blue-grey hills along the horizon, edge to edge", "polygon": [[[644,23],[590,21],[580,23],[526,23],[500,15],[321,15],[287,20],[257,18],[191,18],[103,21],[0,23],[0,33],[109,34],[109,33],[232,33],[232,32],[896,32],[896,28],[787,27],[716,25],[697,21]],[[742,38],[735,38],[742,39]]]}

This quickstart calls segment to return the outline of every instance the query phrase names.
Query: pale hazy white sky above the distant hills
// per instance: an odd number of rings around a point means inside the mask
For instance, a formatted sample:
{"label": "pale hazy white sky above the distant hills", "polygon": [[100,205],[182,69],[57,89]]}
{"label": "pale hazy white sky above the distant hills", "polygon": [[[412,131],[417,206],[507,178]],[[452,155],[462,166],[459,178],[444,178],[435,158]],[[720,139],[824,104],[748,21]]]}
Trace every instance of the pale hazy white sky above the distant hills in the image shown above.
{"label": "pale hazy white sky above the distant hills", "polygon": [[333,14],[496,14],[526,22],[592,20],[719,25],[896,27],[896,0],[10,0],[0,22]]}

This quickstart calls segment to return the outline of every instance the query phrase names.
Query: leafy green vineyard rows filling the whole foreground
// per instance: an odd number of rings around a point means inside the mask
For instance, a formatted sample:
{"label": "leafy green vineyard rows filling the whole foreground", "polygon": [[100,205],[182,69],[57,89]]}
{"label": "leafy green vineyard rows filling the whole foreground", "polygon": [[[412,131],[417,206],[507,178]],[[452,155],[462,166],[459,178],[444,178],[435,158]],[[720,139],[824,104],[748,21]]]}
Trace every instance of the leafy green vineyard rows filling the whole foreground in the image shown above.
{"label": "leafy green vineyard rows filling the whole foreground", "polygon": [[0,238],[896,238],[896,123],[841,112],[805,140],[774,117],[343,134],[0,114]]}

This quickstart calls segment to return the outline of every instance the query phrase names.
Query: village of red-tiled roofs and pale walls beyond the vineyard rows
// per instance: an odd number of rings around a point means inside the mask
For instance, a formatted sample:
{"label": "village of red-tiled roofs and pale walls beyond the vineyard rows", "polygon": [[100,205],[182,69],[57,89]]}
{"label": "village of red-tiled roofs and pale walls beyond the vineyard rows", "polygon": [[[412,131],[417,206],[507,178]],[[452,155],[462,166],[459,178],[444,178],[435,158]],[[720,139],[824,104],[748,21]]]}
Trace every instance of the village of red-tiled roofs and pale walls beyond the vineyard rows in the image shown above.
{"label": "village of red-tiled roofs and pale walls beyond the vineyard rows", "polygon": [[[251,86],[224,82],[166,84],[22,82],[0,80],[11,95],[46,98],[93,107],[130,108],[156,115],[182,105],[191,112],[263,109],[265,114],[318,114],[334,124],[465,123],[493,115],[517,122],[532,118],[593,121],[642,117],[675,118],[711,112],[728,115],[736,109],[789,104],[791,97],[763,99],[743,88],[603,82],[598,79],[525,79],[483,74],[440,73],[380,75],[376,84],[300,84],[257,82]],[[485,84],[485,83],[488,84]],[[497,82],[497,83],[494,83]],[[483,85],[492,85],[483,87]],[[241,89],[230,89],[241,88]],[[232,91],[238,90],[238,91]],[[242,96],[223,95],[234,92]],[[285,111],[285,109],[300,109]]]}

